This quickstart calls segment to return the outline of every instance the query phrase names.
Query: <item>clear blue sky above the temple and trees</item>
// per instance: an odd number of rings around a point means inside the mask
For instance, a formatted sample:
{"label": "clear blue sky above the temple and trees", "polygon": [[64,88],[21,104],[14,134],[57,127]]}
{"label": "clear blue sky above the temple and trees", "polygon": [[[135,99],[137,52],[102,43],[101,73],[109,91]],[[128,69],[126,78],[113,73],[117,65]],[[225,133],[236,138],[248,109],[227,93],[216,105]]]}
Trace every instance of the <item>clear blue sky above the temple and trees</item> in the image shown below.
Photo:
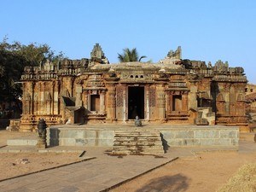
{"label": "clear blue sky above the temple and trees", "polygon": [[99,43],[110,62],[136,47],[159,61],[182,46],[183,59],[229,61],[256,84],[254,0],[0,0],[0,39],[49,44],[71,59]]}

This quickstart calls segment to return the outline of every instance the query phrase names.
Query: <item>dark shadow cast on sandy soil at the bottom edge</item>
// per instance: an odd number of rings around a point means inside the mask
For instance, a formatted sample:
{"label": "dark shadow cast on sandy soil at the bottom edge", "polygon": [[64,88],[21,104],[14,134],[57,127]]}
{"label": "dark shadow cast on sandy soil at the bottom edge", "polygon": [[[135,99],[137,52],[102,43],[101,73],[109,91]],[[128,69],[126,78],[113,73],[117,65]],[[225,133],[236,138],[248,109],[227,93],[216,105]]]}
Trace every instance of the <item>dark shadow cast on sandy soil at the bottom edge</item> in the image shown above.
{"label": "dark shadow cast on sandy soil at the bottom edge", "polygon": [[182,192],[189,188],[189,178],[181,174],[173,176],[164,176],[151,179],[141,189],[136,192],[156,192],[156,191],[175,191]]}

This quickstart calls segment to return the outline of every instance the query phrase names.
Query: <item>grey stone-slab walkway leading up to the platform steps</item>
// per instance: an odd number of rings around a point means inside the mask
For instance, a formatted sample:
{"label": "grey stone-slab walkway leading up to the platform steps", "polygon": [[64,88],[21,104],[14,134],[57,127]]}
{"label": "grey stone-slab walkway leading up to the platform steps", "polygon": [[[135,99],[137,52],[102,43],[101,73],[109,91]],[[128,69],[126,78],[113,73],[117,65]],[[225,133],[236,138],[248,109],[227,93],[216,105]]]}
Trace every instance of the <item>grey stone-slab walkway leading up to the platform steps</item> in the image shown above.
{"label": "grey stone-slab walkway leading up to the platform steps", "polygon": [[[256,154],[256,143],[253,135],[249,139],[241,139],[238,153]],[[6,148],[6,147],[5,147]],[[5,148],[0,148],[4,152]],[[14,149],[14,148],[9,148]],[[33,151],[20,146],[20,152]],[[68,151],[73,148],[49,148],[51,151]],[[82,148],[76,148],[81,150]],[[196,158],[201,151],[230,150],[230,148],[169,148],[164,158],[151,155],[127,155],[123,158],[108,156],[104,151],[109,148],[84,148],[84,158],[96,159],[79,162],[70,166],[62,166],[49,171],[33,173],[0,182],[0,191],[108,191],[109,188],[137,177],[145,172],[166,164],[177,157]],[[15,151],[13,151],[15,152]]]}

